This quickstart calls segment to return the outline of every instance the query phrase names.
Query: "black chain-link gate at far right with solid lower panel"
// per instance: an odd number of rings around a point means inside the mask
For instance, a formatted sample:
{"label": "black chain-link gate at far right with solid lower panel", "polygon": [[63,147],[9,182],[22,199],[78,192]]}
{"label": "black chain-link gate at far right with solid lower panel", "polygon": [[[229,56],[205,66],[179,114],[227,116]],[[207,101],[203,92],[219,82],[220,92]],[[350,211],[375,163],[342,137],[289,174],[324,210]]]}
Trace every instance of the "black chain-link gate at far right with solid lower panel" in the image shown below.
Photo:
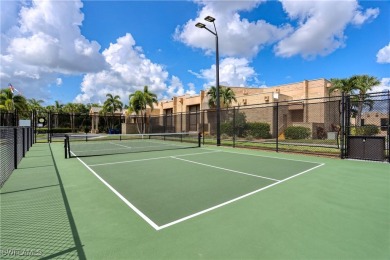
{"label": "black chain-link gate at far right with solid lower panel", "polygon": [[390,92],[343,95],[341,158],[390,162]]}

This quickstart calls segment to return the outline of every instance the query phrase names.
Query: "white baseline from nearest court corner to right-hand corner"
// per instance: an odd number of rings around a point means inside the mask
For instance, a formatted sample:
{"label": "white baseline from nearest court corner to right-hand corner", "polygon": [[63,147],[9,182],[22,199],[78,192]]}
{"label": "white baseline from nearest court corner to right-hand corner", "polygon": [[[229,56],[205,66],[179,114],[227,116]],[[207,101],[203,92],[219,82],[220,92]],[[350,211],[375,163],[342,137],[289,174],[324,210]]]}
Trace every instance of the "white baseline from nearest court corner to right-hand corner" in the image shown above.
{"label": "white baseline from nearest court corner to right-hand corner", "polygon": [[255,194],[255,193],[258,193],[258,192],[260,192],[260,191],[263,191],[263,190],[266,190],[266,189],[268,189],[268,188],[271,188],[271,187],[273,187],[273,186],[276,186],[276,185],[278,185],[278,184],[280,184],[280,183],[283,183],[283,182],[285,182],[285,181],[287,181],[287,180],[290,180],[290,179],[292,179],[292,178],[295,178],[295,177],[297,177],[297,176],[299,176],[299,175],[301,175],[301,174],[304,174],[304,173],[306,173],[306,172],[309,172],[309,171],[311,171],[311,170],[314,170],[314,169],[316,169],[316,168],[318,168],[318,167],[321,167],[321,166],[323,166],[323,165],[324,165],[324,163],[323,163],[323,164],[320,164],[320,165],[317,165],[317,166],[315,166],[315,167],[313,167],[313,168],[310,168],[310,169],[308,169],[308,170],[306,170],[306,171],[297,173],[297,174],[295,174],[295,175],[293,175],[293,176],[290,176],[290,177],[288,177],[288,178],[286,178],[286,179],[284,179],[284,180],[281,180],[281,181],[279,181],[279,182],[272,183],[272,184],[270,184],[270,185],[268,185],[268,186],[265,186],[265,187],[263,187],[263,188],[261,188],[261,189],[258,189],[258,190],[249,192],[249,193],[244,194],[244,195],[242,195],[242,196],[240,196],[240,197],[237,197],[237,198],[234,198],[234,199],[232,199],[232,200],[226,201],[226,202],[224,202],[224,203],[218,204],[218,205],[216,205],[216,206],[214,206],[214,207],[211,207],[211,208],[208,208],[208,209],[199,211],[199,212],[197,212],[197,213],[195,213],[195,214],[192,214],[192,215],[189,215],[189,216],[187,216],[187,217],[184,217],[184,218],[181,218],[181,219],[172,221],[172,222],[170,222],[170,223],[167,223],[167,224],[165,224],[165,225],[159,226],[157,230],[161,230],[161,229],[164,229],[164,228],[173,226],[173,225],[178,224],[178,223],[180,223],[180,222],[183,222],[183,221],[185,221],[185,220],[188,220],[188,219],[191,219],[191,218],[200,216],[200,215],[202,215],[202,214],[205,214],[205,213],[207,213],[207,212],[210,212],[210,211],[212,211],[212,210],[214,210],[214,209],[218,209],[218,208],[220,208],[220,207],[226,206],[226,205],[228,205],[228,204],[230,204],[230,203],[233,203],[233,202],[235,202],[235,201],[241,200],[241,199],[246,198],[246,197],[248,197],[248,196],[251,196],[251,195],[253,195],[253,194]]}

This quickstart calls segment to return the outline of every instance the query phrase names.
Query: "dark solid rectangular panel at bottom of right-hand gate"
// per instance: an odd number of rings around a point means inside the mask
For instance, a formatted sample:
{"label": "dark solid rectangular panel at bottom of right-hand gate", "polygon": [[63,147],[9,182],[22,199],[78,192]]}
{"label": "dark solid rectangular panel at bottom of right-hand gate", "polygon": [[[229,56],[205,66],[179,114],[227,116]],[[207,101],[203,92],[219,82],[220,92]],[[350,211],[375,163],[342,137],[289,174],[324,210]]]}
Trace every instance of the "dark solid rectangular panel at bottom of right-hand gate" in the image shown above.
{"label": "dark solid rectangular panel at bottom of right-hand gate", "polygon": [[348,158],[384,161],[385,143],[384,136],[349,136]]}

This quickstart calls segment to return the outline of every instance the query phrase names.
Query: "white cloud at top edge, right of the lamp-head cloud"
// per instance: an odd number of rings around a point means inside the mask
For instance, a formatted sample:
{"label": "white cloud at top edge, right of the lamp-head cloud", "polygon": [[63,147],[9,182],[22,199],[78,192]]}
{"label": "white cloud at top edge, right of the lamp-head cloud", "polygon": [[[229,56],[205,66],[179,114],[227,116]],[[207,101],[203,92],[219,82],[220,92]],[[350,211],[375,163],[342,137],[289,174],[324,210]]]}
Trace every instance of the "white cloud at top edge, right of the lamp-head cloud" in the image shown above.
{"label": "white cloud at top edge, right of the lamp-head cloud", "polygon": [[280,2],[289,18],[298,24],[294,32],[275,46],[276,55],[281,57],[328,55],[345,46],[344,30],[348,24],[362,25],[379,14],[378,9],[362,11],[356,0]]}

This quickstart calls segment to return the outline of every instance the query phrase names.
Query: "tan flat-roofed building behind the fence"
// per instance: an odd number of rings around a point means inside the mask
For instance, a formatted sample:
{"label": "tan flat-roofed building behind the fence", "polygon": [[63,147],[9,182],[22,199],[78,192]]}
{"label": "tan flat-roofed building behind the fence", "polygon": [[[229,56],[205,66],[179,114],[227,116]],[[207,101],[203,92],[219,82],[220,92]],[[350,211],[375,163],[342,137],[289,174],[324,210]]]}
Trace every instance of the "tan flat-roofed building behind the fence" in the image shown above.
{"label": "tan flat-roofed building behind the fence", "polygon": [[[334,125],[339,124],[339,113],[336,112],[339,102],[329,102],[338,93],[329,94],[330,86],[328,80],[317,79],[268,88],[230,87],[237,99],[231,107],[245,111],[247,122],[270,124],[273,136],[283,134],[286,127],[294,125],[308,127],[313,138],[320,138],[317,136],[318,131],[334,131]],[[214,134],[215,113],[209,108],[208,101],[207,91],[202,90],[199,95],[183,95],[161,101],[155,110],[161,116],[168,117],[172,127],[180,125],[180,129],[172,131],[205,131]],[[207,116],[202,116],[199,111],[207,111]],[[221,122],[224,120],[223,114]]]}

